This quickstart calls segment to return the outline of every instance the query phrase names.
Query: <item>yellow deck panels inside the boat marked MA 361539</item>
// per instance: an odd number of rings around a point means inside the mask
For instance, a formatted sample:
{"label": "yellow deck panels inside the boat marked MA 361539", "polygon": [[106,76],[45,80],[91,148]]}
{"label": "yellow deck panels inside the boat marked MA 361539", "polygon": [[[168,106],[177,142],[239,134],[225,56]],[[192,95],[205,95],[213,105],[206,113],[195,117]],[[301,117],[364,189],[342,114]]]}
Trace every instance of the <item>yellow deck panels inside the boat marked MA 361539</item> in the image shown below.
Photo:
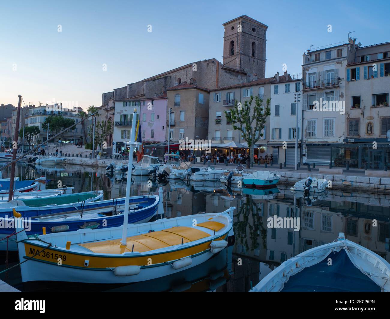
{"label": "yellow deck panels inside the boat marked MA 361539", "polygon": [[[197,224],[198,227],[204,227],[212,231],[219,231],[225,224],[208,221]],[[127,238],[127,246],[121,245],[121,239],[95,241],[90,243],[78,244],[91,252],[98,254],[122,254],[124,252],[147,252],[150,250],[161,249],[169,246],[180,245],[190,241],[199,240],[210,236],[209,233],[193,227],[177,226],[161,231],[154,231]],[[133,249],[134,245],[134,249]]]}

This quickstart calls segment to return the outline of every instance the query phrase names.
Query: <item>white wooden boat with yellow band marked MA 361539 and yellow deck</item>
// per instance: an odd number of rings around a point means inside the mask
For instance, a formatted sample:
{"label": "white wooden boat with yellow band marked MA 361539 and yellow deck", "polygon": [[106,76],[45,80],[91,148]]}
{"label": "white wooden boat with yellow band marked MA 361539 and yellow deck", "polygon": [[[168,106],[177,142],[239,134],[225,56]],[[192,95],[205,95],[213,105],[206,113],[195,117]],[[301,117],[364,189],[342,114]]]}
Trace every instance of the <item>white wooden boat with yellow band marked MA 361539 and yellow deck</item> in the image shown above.
{"label": "white wooden boat with yellow band marked MA 361539 and yellow deck", "polygon": [[126,245],[123,226],[32,238],[18,228],[22,281],[131,283],[197,266],[227,247],[234,209],[129,224]]}

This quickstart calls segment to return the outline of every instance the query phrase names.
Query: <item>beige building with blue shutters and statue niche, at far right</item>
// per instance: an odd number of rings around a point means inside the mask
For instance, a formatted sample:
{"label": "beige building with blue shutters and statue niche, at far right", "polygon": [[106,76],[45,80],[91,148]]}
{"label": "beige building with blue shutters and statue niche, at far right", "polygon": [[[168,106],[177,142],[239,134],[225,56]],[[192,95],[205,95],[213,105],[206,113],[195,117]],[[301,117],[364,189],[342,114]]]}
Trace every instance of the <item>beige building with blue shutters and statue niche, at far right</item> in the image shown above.
{"label": "beige building with blue shutters and statue niche, at far right", "polygon": [[332,160],[340,166],[389,167],[390,42],[357,48],[346,71],[346,145],[333,152]]}

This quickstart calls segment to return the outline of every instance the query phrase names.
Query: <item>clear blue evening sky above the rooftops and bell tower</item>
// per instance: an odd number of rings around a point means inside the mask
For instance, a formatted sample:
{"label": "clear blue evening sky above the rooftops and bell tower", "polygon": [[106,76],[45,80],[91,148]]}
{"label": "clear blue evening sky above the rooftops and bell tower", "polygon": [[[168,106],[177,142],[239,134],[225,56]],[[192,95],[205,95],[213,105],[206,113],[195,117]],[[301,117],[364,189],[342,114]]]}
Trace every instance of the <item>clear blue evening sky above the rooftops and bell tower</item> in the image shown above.
{"label": "clear blue evening sky above the rooftops and bell tower", "polygon": [[222,62],[222,23],[243,14],[268,25],[267,77],[283,63],[301,73],[311,44],[347,41],[349,31],[363,46],[390,41],[388,1],[0,0],[0,12],[0,102],[15,106],[19,94],[26,104],[99,106],[113,88],[206,58]]}

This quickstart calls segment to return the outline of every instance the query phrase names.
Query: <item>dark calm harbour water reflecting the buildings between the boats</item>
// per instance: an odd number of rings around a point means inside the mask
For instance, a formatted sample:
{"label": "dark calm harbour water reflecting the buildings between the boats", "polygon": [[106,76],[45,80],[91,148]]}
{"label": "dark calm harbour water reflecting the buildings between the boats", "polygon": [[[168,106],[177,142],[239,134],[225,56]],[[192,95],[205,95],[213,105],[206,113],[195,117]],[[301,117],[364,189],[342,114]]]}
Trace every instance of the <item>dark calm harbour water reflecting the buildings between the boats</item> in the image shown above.
{"label": "dark calm harbour water reflecting the buildings between the boats", "polygon": [[[74,192],[103,190],[104,199],[123,197],[126,179],[121,174],[109,175],[104,169],[92,167],[32,167],[18,164],[16,176],[34,179],[46,176],[48,188],[62,185],[73,186]],[[9,169],[3,178],[9,177]],[[147,177],[133,177],[131,195],[158,194],[156,182]],[[220,183],[191,183],[182,181],[162,185],[164,208],[167,218],[191,215],[198,212],[220,212],[236,206],[234,213],[233,247],[223,250],[218,256],[189,271],[182,271],[168,278],[123,287],[75,286],[55,284],[20,285],[20,272],[16,268],[9,273],[12,286],[29,290],[121,290],[121,291],[248,291],[250,282],[257,284],[274,267],[301,252],[330,243],[339,232],[346,238],[376,252],[390,261],[390,196],[328,191],[321,196],[302,198],[291,193],[288,187],[266,191],[227,188]],[[300,218],[300,231],[294,229],[269,229],[270,216]],[[372,227],[372,220],[378,221]],[[0,269],[4,269],[1,255]],[[16,264],[17,256],[10,258]],[[4,276],[1,277],[4,280]]]}

